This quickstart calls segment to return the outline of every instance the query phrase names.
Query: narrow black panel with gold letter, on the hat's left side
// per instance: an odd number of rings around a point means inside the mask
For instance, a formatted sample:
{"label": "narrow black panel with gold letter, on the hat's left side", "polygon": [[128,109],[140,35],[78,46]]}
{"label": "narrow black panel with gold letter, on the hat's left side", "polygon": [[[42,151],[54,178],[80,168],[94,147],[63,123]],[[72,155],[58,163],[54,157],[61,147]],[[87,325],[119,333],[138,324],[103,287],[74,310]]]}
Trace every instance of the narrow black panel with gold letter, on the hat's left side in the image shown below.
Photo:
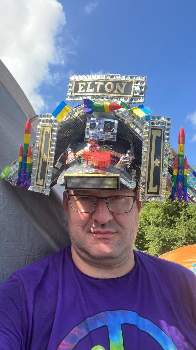
{"label": "narrow black panel with gold letter, on the hat's left side", "polygon": [[50,155],[51,136],[52,125],[42,124],[38,146],[37,166],[35,171],[34,186],[36,187],[45,188]]}

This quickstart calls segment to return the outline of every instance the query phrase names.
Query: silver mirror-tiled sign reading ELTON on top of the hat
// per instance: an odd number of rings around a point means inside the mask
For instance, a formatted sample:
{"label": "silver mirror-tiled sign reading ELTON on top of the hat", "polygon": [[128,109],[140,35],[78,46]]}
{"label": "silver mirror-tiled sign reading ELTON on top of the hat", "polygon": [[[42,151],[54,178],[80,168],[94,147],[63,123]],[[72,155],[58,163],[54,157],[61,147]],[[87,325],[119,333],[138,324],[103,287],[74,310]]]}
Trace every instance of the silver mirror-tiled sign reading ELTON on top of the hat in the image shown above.
{"label": "silver mirror-tiled sign reading ELTON on top of the hat", "polygon": [[[99,87],[95,88],[90,86],[93,85],[95,81],[103,82],[105,86],[110,84],[109,86],[113,86],[111,89],[106,89],[104,92],[100,91]],[[76,92],[75,84],[80,82],[82,84],[82,88],[79,89],[79,93]],[[123,94],[122,85],[121,89],[117,84],[126,84],[132,83],[131,92],[129,95]],[[102,83],[101,83],[102,84]],[[97,85],[97,86],[98,86]],[[101,86],[102,87],[102,86]],[[86,89],[86,90],[85,90]],[[89,98],[91,100],[98,99],[120,99],[121,101],[127,103],[143,103],[146,89],[146,77],[145,76],[136,76],[136,75],[120,75],[120,74],[87,74],[87,75],[71,75],[68,83],[68,92],[66,100],[71,101],[82,101],[84,98]],[[80,94],[81,92],[81,94]]]}

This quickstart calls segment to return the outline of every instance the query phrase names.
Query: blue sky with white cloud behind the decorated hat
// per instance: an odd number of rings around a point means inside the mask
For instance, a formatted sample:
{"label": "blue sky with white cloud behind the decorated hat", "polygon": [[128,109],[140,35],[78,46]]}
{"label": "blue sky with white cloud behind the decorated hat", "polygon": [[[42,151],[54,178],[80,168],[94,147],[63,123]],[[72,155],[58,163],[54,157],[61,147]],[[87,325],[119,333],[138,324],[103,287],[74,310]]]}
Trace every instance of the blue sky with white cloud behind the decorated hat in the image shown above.
{"label": "blue sky with white cloud behind the decorated hat", "polygon": [[[6,0],[3,2],[11,16]],[[14,0],[8,3],[12,3],[13,9]],[[171,145],[176,150],[178,132],[181,125],[184,127],[185,154],[188,163],[196,165],[196,1],[44,0],[42,5],[36,3],[40,2],[22,0],[19,3],[20,21],[14,28],[8,28],[9,37],[5,36],[4,49],[0,49],[2,61],[20,83],[35,111],[52,112],[65,100],[70,74],[146,75],[144,105],[154,115],[172,118]],[[34,27],[29,28],[29,21],[28,28],[25,27],[26,19],[33,20]],[[7,44],[14,39],[14,32],[17,64]]]}

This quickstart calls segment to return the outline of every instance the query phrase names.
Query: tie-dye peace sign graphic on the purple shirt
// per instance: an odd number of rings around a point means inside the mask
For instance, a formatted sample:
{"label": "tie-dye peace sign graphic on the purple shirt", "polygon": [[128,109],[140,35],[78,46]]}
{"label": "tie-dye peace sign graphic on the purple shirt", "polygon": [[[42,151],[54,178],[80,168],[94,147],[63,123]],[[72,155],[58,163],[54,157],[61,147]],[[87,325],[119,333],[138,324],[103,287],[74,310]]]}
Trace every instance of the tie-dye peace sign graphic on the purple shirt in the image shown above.
{"label": "tie-dye peace sign graphic on the purple shirt", "polygon": [[[108,329],[108,342],[110,350],[128,350],[124,348],[122,325],[135,325],[140,331],[149,334],[164,350],[177,350],[173,341],[158,326],[148,319],[129,310],[115,310],[100,312],[87,317],[83,322],[73,328],[62,340],[58,350],[74,349],[74,347],[93,330],[106,326]],[[95,344],[91,350],[106,350],[103,346]]]}

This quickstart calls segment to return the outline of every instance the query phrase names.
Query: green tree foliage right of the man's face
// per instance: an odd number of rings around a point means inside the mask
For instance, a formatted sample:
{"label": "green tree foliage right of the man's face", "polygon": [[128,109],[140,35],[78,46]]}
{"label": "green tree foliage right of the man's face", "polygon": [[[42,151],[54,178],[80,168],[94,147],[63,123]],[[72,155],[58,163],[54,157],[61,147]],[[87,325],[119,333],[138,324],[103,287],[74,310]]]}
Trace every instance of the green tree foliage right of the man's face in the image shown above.
{"label": "green tree foliage right of the man's face", "polygon": [[140,213],[137,249],[159,256],[196,244],[196,204],[144,202]]}

